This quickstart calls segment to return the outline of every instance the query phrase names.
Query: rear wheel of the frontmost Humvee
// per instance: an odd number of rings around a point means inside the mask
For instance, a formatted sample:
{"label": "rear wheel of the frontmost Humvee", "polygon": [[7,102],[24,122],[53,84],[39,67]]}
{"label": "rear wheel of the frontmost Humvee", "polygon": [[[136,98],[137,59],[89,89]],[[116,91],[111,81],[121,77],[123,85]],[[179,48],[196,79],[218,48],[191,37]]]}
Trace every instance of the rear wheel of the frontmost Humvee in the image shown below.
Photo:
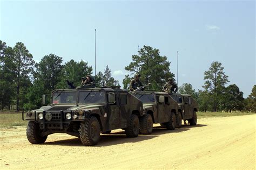
{"label": "rear wheel of the frontmost Humvee", "polygon": [[139,118],[137,115],[131,115],[129,126],[125,129],[127,137],[134,138],[139,134]]}

